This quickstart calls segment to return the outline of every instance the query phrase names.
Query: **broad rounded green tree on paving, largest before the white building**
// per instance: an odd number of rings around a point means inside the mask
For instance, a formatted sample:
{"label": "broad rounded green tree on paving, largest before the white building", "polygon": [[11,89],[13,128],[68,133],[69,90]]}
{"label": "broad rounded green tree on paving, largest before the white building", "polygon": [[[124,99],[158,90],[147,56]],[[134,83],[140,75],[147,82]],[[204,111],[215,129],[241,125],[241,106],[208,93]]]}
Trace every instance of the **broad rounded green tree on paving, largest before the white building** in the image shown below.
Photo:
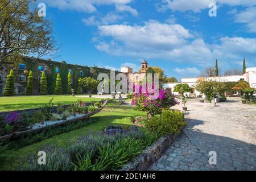
{"label": "broad rounded green tree on paving, largest before the white building", "polygon": [[215,94],[222,94],[225,92],[225,85],[223,82],[200,80],[197,82],[196,89],[207,96],[207,100],[212,102]]}

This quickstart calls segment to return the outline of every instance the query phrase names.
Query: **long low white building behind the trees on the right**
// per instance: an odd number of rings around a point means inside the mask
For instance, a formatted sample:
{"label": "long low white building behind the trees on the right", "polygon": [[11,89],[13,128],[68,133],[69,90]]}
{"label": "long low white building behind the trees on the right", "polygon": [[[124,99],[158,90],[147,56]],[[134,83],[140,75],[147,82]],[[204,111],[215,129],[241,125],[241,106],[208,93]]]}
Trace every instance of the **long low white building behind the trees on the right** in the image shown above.
{"label": "long low white building behind the trees on the right", "polygon": [[[247,81],[249,82],[251,88],[256,88],[256,67],[247,68],[246,73],[243,75],[232,75],[232,76],[219,76],[219,77],[195,77],[195,78],[182,78],[181,84],[188,84],[192,88],[195,88],[197,81],[199,80],[214,80],[220,82],[236,82],[236,81]],[[164,89],[171,90],[172,93],[177,95],[178,93],[174,92],[174,86],[180,83],[166,83],[163,84]],[[200,92],[194,89],[194,93],[198,97]],[[188,94],[188,93],[185,93]]]}

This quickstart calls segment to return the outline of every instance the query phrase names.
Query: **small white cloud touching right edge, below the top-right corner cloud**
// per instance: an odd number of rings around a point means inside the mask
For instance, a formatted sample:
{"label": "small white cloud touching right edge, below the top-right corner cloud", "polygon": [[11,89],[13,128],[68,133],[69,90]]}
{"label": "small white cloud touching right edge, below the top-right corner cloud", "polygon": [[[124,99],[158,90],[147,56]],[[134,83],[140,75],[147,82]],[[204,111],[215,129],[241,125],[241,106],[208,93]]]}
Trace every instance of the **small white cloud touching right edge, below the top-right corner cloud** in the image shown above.
{"label": "small white cloud touching right edge, below the top-right corner cloud", "polygon": [[236,23],[245,23],[247,31],[256,32],[256,7],[249,7],[234,15]]}

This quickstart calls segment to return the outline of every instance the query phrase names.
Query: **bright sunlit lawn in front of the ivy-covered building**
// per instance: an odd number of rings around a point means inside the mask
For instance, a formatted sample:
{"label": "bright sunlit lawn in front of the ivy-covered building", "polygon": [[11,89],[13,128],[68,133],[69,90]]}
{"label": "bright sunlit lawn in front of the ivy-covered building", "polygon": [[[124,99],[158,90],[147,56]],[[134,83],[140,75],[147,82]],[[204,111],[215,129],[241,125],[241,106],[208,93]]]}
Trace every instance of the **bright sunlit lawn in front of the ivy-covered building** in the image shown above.
{"label": "bright sunlit lawn in front of the ivy-covered building", "polygon": [[100,101],[102,98],[89,98],[71,95],[58,95],[58,96],[13,96],[13,97],[0,97],[0,112],[32,109],[43,106],[48,103],[51,98],[54,97],[53,103],[55,105],[60,102],[61,105],[68,105],[76,102],[79,98],[85,102]]}

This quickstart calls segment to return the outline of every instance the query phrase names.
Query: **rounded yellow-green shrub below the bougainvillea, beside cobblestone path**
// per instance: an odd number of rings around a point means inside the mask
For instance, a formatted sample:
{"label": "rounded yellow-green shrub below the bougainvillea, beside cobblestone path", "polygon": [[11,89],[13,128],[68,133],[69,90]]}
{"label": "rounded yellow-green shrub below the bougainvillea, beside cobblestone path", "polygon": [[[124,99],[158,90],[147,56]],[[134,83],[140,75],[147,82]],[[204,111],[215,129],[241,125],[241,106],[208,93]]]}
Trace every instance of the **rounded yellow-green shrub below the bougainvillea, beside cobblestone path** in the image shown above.
{"label": "rounded yellow-green shrub below the bougainvillea, beside cobblestone path", "polygon": [[146,127],[159,135],[180,133],[185,126],[184,114],[177,110],[166,110],[146,123]]}

